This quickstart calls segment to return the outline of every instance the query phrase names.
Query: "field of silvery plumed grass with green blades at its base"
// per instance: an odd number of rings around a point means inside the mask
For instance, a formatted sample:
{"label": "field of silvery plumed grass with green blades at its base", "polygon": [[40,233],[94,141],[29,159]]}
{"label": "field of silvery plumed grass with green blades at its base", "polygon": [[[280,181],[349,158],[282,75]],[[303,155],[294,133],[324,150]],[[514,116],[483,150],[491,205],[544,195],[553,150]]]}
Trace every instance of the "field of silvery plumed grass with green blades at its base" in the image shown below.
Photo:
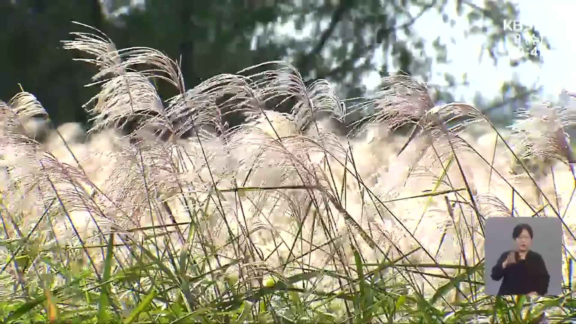
{"label": "field of silvery plumed grass with green blades at its base", "polygon": [[[187,89],[162,52],[89,32],[64,46],[99,69],[88,136],[24,89],[0,102],[3,323],[576,318],[570,110],[502,130],[403,74],[342,101],[282,62]],[[512,215],[562,219],[562,296],[484,294],[484,220]]]}

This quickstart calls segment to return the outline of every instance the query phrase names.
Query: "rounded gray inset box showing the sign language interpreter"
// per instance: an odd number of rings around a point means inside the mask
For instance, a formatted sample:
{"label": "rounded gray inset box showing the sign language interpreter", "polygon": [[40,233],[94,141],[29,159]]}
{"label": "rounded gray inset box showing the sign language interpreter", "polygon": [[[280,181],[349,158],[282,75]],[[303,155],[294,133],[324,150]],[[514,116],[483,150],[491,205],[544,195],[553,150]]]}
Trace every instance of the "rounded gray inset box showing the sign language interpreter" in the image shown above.
{"label": "rounded gray inset box showing the sign language interpreter", "polygon": [[490,217],[484,223],[486,295],[562,295],[562,223]]}

